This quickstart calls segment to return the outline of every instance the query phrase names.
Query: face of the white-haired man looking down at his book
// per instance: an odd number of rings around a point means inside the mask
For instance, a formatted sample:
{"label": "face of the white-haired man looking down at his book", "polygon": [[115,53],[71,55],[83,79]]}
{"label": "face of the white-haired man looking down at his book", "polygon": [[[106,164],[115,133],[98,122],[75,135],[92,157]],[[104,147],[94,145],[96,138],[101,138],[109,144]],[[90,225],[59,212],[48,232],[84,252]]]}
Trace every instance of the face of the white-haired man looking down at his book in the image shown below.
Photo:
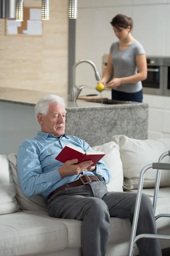
{"label": "face of the white-haired man looking down at his book", "polygon": [[65,132],[65,105],[51,103],[48,108],[48,115],[44,116],[41,113],[37,115],[41,131],[51,133],[56,137],[62,136]]}

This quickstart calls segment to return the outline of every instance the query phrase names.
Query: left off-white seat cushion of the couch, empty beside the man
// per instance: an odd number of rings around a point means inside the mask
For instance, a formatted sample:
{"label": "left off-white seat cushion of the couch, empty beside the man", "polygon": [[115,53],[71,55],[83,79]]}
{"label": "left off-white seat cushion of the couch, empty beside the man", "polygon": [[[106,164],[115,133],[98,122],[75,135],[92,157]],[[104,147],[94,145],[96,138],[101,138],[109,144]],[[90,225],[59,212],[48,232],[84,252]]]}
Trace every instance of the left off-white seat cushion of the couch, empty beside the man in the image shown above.
{"label": "left off-white seat cushion of the couch, empty beside the man", "polygon": [[67,247],[67,227],[46,212],[3,215],[0,230],[0,255],[39,255]]}

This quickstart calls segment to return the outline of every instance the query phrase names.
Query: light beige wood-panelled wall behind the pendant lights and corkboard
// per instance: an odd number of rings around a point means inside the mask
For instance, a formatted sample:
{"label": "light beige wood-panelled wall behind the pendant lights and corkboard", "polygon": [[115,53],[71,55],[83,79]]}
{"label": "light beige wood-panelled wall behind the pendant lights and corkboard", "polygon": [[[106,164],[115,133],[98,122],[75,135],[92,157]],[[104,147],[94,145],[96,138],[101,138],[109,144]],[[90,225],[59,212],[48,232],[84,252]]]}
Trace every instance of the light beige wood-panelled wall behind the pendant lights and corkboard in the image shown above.
{"label": "light beige wood-panelled wall behind the pendant lights and corkboard", "polygon": [[[41,6],[41,0],[25,0]],[[68,83],[68,1],[50,0],[43,36],[5,36],[0,19],[0,87],[66,92]]]}

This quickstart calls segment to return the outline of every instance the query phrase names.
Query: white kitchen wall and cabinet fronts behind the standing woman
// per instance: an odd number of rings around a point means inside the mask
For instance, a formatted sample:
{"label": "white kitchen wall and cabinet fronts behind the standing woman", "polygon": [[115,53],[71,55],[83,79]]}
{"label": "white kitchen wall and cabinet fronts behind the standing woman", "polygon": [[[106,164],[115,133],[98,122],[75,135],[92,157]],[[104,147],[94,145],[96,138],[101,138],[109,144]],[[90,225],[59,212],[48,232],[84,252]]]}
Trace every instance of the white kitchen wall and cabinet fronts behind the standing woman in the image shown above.
{"label": "white kitchen wall and cabinet fronts behind the standing woman", "polygon": [[[78,6],[76,60],[94,61],[101,74],[102,54],[117,40],[110,21],[119,13],[133,18],[132,34],[147,55],[170,55],[170,0],[79,0]],[[88,86],[81,95],[96,93],[90,65],[77,67],[76,83]],[[102,94],[111,98],[109,90]],[[170,137],[170,97],[144,95],[144,102],[149,104],[148,138]]]}

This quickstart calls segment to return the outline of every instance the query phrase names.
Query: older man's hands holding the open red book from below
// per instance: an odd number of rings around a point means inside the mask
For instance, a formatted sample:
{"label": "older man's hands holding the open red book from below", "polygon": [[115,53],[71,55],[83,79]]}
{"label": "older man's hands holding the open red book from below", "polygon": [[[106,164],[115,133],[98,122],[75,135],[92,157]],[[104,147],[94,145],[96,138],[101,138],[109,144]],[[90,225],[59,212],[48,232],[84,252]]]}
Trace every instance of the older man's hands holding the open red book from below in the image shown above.
{"label": "older man's hands holding the open red book from below", "polygon": [[61,166],[58,169],[61,177],[65,177],[67,175],[77,175],[82,171],[93,171],[95,168],[95,166],[91,166],[93,164],[91,160],[84,161],[82,163],[77,163],[77,162],[78,162],[78,159],[72,159],[72,160],[66,161],[63,164],[63,166]]}

